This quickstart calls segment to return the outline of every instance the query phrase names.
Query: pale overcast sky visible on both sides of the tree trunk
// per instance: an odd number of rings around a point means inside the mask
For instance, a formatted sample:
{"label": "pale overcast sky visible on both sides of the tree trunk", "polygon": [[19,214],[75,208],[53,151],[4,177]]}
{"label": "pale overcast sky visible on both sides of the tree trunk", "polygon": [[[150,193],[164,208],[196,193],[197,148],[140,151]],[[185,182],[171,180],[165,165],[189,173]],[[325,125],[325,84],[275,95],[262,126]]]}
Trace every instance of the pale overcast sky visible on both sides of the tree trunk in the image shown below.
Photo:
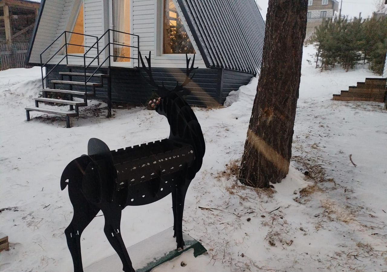
{"label": "pale overcast sky visible on both sides of the tree trunk", "polygon": [[[321,0],[315,0],[321,1]],[[341,0],[338,0],[339,3]],[[258,5],[262,8],[262,17],[266,20],[267,13],[267,3],[269,0],[257,0]],[[376,10],[374,0],[343,0],[342,1],[342,10],[341,13],[344,15],[349,15],[349,17],[359,17],[359,12],[361,12],[361,17],[366,18],[372,15],[372,12]]]}

